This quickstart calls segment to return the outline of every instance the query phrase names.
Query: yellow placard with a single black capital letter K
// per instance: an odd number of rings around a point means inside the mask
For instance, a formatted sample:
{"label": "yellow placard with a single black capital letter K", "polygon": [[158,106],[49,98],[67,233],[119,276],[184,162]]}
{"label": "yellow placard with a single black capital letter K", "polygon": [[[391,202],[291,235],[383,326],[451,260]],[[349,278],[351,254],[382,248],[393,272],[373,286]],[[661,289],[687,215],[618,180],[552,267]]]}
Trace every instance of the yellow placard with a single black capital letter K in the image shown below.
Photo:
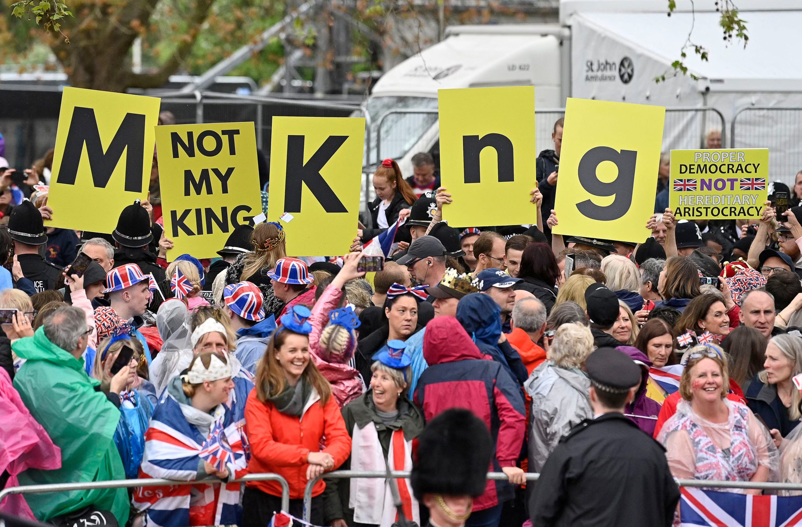
{"label": "yellow placard with a single black capital letter K", "polygon": [[286,231],[287,253],[336,256],[356,236],[365,120],[273,117],[267,219]]}

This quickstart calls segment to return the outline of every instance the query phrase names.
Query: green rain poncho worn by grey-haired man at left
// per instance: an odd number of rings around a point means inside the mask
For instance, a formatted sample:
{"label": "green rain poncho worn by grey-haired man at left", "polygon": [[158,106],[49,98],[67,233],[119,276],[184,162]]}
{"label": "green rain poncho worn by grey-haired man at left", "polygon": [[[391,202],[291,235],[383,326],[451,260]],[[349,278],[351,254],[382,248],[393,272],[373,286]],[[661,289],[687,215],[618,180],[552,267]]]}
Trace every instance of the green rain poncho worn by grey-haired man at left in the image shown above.
{"label": "green rain poncho worn by grey-haired man at left", "polygon": [[[27,361],[14,377],[14,387],[30,414],[61,448],[61,468],[26,470],[19,475],[19,483],[124,480],[123,464],[112,439],[119,410],[103,392],[95,391],[99,381],[83,370],[83,359],[75,359],[51,343],[44,327],[33,337],[20,338],[11,348]],[[88,505],[111,511],[119,525],[128,521],[125,488],[26,494],[26,501],[39,521]]]}

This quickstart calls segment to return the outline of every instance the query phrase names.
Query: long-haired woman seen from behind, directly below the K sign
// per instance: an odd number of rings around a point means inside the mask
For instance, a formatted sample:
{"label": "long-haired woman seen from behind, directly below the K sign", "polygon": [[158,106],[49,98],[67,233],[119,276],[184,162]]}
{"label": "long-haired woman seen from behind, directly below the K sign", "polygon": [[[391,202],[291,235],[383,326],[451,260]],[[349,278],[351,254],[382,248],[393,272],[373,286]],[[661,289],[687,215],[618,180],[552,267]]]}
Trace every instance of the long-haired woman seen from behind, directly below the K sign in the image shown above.
{"label": "long-haired woman seen from behind, directly below the K sign", "polygon": [[273,294],[273,286],[267,276],[269,270],[276,266],[280,258],[287,256],[285,233],[277,221],[260,223],[251,234],[253,251],[242,254],[229,266],[225,273],[215,278],[213,291],[218,303],[223,303],[225,286],[248,281],[256,284],[265,299],[265,314],[278,316],[282,312],[284,302]]}

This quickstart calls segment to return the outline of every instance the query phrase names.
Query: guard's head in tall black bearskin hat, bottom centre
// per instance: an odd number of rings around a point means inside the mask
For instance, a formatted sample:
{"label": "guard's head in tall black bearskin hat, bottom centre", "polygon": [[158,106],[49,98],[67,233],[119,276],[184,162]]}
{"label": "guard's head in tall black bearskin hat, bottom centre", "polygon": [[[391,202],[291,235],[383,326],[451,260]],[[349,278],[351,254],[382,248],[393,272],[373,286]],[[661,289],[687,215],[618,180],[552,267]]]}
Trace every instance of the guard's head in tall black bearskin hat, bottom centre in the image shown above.
{"label": "guard's head in tall black bearskin hat, bottom centre", "polygon": [[487,425],[469,410],[451,408],[427,423],[418,436],[410,484],[421,512],[429,509],[429,527],[465,525],[473,499],[488,484],[493,450]]}

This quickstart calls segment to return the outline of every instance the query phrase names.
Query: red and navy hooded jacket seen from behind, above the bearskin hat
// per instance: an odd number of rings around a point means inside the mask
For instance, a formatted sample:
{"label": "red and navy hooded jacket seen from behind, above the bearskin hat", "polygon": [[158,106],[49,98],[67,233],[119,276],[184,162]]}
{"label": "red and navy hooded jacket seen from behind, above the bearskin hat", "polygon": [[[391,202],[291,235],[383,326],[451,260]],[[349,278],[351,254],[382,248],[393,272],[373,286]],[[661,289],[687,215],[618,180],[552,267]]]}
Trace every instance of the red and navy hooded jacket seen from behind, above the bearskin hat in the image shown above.
{"label": "red and navy hooded jacket seen from behind, above the bearskin hat", "polygon": [[[495,360],[487,360],[454,317],[433,318],[423,336],[423,359],[429,364],[415,388],[415,403],[429,421],[449,408],[466,408],[488,425],[496,440],[488,472],[514,467],[524,441],[526,417],[520,386]],[[473,510],[511,500],[506,481],[488,480]]]}

